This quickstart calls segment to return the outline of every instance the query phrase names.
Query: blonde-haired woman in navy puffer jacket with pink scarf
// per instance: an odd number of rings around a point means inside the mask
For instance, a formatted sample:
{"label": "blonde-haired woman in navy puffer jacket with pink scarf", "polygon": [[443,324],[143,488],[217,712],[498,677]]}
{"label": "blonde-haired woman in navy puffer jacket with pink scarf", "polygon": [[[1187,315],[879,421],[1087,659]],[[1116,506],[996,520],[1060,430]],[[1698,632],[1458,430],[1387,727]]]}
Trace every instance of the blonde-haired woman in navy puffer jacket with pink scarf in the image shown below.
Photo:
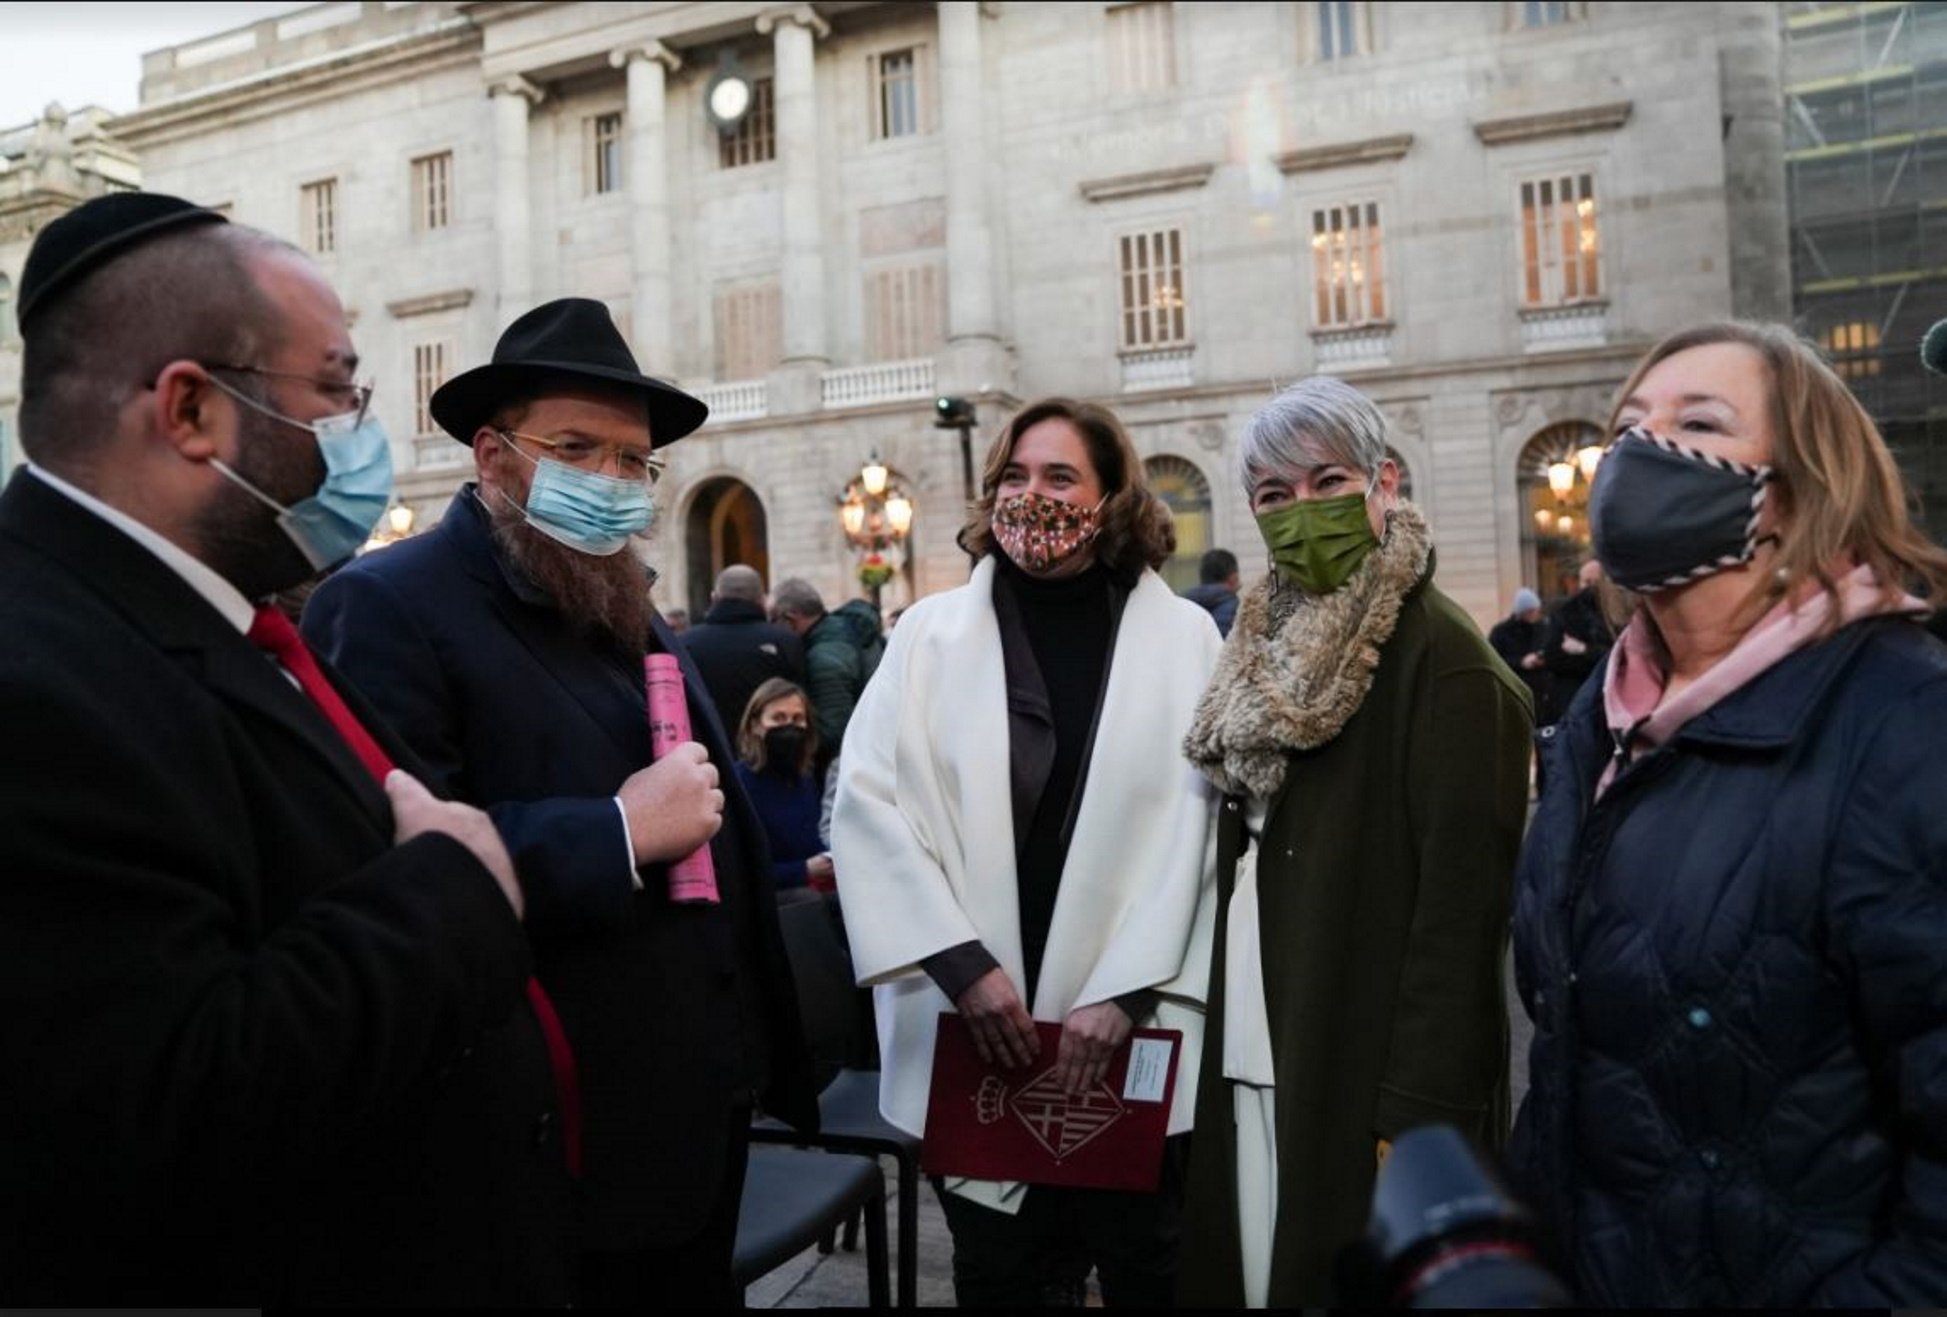
{"label": "blonde-haired woman in navy puffer jacket with pink scarf", "polygon": [[1665,339],[1614,423],[1643,606],[1544,746],[1511,1169],[1587,1303],[1947,1301],[1947,555],[1785,329]]}

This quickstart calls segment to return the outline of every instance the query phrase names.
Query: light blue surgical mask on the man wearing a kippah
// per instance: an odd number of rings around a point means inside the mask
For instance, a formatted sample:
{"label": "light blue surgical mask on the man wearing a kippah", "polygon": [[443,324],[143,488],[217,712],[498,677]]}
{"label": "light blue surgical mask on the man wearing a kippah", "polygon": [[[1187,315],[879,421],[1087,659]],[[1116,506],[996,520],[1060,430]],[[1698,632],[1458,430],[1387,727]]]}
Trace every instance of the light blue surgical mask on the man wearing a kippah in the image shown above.
{"label": "light blue surgical mask on the man wearing a kippah", "polygon": [[284,507],[216,458],[210,458],[210,466],[276,512],[278,528],[298,546],[312,571],[337,567],[356,553],[358,546],[372,536],[386,505],[391,503],[391,442],[378,417],[347,411],[321,421],[294,421],[238,394],[214,376],[210,380],[245,407],[261,411],[273,421],[310,431],[325,460],[325,483],[310,499]]}

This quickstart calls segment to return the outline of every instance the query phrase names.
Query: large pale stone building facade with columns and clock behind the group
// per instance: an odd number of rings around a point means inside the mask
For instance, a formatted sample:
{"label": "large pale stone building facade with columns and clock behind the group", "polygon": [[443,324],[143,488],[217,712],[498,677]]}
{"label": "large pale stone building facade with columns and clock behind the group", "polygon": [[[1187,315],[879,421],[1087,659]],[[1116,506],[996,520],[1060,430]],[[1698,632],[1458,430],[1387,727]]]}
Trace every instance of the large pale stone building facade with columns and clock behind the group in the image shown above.
{"label": "large pale stone building facade with columns and clock behind the group", "polygon": [[1334,372],[1488,621],[1573,569],[1548,468],[1643,347],[1789,314],[1778,70],[1756,2],[366,0],[146,56],[113,131],[317,253],[421,526],[471,466],[424,395],[582,294],[715,411],[658,489],[666,608],[738,559],[857,594],[835,505],[872,454],[915,507],[886,604],[964,581],[938,395],[975,460],[1024,399],[1108,401],[1172,579],[1207,546],[1250,575],[1238,436]]}

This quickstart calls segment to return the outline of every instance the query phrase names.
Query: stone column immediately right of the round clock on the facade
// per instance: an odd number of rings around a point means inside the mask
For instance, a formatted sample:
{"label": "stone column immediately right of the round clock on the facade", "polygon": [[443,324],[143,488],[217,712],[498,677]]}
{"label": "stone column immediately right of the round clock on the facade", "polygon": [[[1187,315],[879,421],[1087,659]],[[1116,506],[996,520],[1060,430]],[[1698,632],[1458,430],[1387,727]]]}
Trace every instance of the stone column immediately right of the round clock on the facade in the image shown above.
{"label": "stone column immediately right of the round clock on the facade", "polygon": [[[777,111],[777,156],[783,164],[785,271],[781,279],[785,372],[773,409],[818,407],[816,374],[831,364],[826,349],[824,205],[818,189],[818,88],[812,41],[831,31],[808,4],[767,10],[757,31],[775,43],[771,82]],[[777,394],[785,394],[779,397]]]}

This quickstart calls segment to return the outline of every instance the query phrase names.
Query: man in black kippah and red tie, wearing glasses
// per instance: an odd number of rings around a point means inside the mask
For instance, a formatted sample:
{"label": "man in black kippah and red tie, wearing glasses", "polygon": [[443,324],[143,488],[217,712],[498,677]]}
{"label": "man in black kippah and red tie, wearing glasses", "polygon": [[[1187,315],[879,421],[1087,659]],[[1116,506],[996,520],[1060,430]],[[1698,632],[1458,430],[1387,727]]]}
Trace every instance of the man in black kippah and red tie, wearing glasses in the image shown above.
{"label": "man in black kippah and red tie, wearing glasses", "polygon": [[148,193],[19,294],[0,1303],[559,1305],[572,1058],[508,849],[265,602],[391,495],[337,296]]}

